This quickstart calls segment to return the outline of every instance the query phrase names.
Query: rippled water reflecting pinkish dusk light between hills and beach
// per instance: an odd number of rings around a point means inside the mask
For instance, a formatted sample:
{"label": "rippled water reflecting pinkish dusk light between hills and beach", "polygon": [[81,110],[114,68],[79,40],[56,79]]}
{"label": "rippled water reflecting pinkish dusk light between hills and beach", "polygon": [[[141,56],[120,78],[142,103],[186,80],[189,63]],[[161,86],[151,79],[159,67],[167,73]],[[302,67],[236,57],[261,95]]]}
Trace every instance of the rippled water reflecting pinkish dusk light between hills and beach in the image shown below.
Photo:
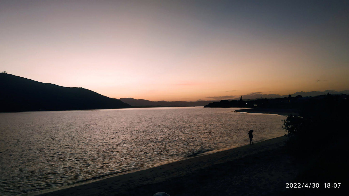
{"label": "rippled water reflecting pinkish dusk light between hills and beach", "polygon": [[284,116],[235,108],[0,113],[0,195],[59,187],[284,135]]}

